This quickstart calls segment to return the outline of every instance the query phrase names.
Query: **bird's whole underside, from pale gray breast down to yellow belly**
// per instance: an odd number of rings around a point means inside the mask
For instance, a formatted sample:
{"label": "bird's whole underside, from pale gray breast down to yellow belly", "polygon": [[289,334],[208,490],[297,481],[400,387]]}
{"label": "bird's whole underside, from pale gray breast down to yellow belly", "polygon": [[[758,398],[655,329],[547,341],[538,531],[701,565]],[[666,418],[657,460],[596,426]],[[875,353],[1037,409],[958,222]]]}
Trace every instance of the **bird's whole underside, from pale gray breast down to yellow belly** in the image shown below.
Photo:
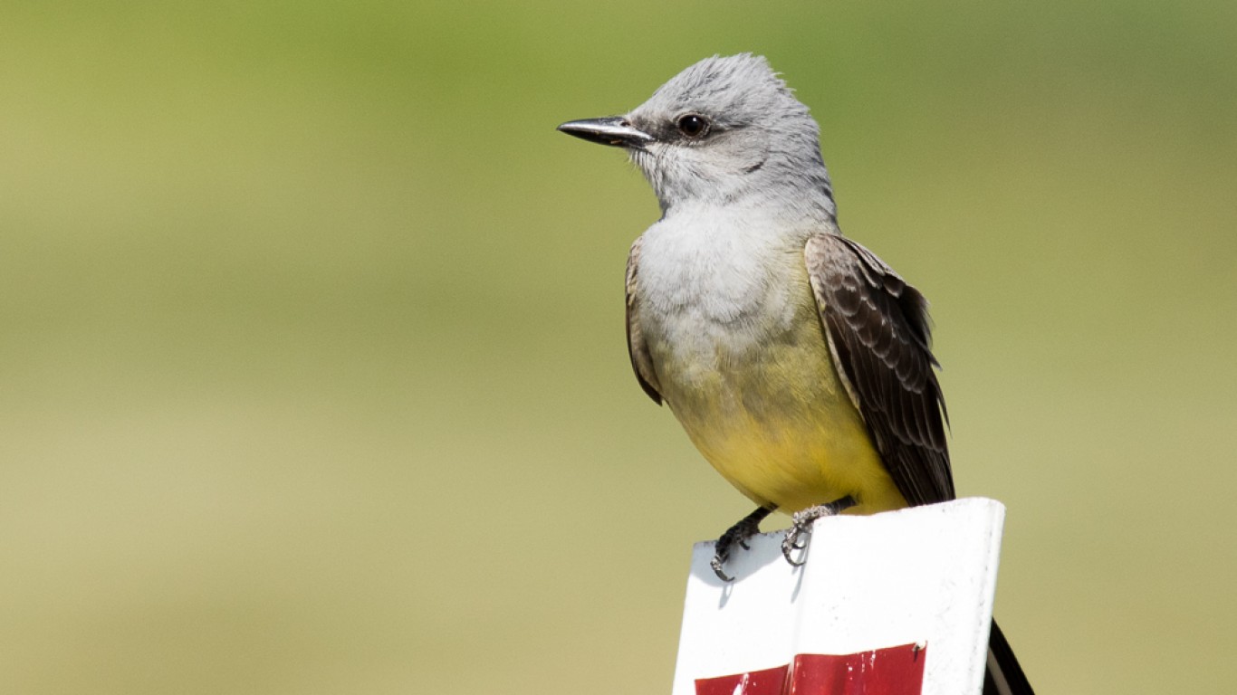
{"label": "bird's whole underside, from pale gray breast down to yellow belly", "polygon": [[636,315],[666,403],[757,503],[897,506],[833,364],[802,242],[713,231],[654,226],[641,241]]}

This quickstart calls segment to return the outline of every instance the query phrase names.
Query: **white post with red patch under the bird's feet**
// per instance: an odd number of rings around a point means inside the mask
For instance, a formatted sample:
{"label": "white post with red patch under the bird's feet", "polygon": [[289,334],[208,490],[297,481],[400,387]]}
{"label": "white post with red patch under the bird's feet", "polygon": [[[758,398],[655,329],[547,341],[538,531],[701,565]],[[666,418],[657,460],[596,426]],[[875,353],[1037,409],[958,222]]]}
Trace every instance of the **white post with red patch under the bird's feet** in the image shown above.
{"label": "white post with red patch under the bird's feet", "polygon": [[782,532],[691,554],[673,695],[978,695],[1004,507],[967,498],[816,522],[794,568]]}

